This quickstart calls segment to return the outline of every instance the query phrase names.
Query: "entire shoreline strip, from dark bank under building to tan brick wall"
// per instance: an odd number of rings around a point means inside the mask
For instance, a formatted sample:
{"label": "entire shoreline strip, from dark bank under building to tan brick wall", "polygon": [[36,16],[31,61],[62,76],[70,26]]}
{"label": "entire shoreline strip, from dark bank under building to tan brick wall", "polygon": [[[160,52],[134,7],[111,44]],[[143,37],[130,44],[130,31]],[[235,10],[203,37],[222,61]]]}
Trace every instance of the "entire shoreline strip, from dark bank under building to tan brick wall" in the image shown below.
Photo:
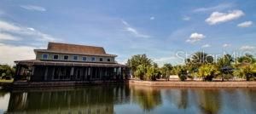
{"label": "entire shoreline strip, from dark bank under building to tan brick wall", "polygon": [[78,87],[90,85],[113,85],[125,83],[131,86],[144,87],[166,87],[166,88],[256,88],[256,81],[228,81],[228,82],[202,82],[202,81],[140,81],[126,80],[118,81],[92,81],[92,82],[15,82],[2,86],[9,88],[50,88],[50,87]]}

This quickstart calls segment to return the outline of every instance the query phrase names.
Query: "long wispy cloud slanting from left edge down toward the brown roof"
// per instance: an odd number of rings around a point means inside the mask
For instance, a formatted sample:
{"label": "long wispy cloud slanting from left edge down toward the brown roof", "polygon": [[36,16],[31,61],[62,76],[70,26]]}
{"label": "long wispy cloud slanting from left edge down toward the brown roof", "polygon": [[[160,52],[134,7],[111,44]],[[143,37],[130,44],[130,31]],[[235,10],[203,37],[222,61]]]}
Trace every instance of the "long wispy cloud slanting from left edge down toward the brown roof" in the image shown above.
{"label": "long wispy cloud slanting from left edge down toward the brown roof", "polygon": [[[6,22],[0,20],[0,31],[5,34],[9,35],[9,37],[26,37],[26,38],[34,38],[37,41],[57,41],[60,40],[58,38],[52,37],[48,34],[45,34],[41,31],[37,31],[32,27],[26,26],[17,26],[10,22]],[[21,37],[20,37],[21,38]]]}

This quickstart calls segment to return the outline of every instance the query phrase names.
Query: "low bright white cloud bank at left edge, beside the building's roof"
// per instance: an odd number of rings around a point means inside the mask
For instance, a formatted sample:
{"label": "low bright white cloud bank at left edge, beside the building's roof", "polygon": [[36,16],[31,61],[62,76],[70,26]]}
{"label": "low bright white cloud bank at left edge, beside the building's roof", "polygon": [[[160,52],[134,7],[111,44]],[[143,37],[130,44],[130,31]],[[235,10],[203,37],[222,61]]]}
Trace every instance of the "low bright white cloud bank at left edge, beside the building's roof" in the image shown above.
{"label": "low bright white cloud bank at left edge, beside the building's roof", "polygon": [[14,65],[14,60],[35,59],[33,49],[34,47],[15,46],[0,43],[0,64]]}

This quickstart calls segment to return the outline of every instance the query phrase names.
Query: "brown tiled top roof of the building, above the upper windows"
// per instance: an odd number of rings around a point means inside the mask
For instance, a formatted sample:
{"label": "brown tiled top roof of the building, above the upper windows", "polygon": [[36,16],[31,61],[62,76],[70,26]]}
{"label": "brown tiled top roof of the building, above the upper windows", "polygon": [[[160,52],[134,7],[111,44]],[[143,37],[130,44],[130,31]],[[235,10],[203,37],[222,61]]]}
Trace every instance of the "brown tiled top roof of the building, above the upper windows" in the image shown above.
{"label": "brown tiled top roof of the building, above the upper windows", "polygon": [[68,43],[48,43],[48,50],[57,52],[82,53],[82,54],[106,54],[104,48]]}

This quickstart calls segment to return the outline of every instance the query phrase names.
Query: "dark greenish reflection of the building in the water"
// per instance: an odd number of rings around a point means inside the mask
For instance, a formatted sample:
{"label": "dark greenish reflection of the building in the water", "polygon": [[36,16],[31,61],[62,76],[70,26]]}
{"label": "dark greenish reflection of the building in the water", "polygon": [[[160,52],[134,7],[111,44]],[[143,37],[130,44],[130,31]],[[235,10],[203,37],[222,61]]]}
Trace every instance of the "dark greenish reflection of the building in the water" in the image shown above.
{"label": "dark greenish reflection of the building in the water", "polygon": [[126,102],[125,86],[91,86],[52,90],[13,91],[8,112],[11,113],[88,113],[113,114],[113,105]]}

